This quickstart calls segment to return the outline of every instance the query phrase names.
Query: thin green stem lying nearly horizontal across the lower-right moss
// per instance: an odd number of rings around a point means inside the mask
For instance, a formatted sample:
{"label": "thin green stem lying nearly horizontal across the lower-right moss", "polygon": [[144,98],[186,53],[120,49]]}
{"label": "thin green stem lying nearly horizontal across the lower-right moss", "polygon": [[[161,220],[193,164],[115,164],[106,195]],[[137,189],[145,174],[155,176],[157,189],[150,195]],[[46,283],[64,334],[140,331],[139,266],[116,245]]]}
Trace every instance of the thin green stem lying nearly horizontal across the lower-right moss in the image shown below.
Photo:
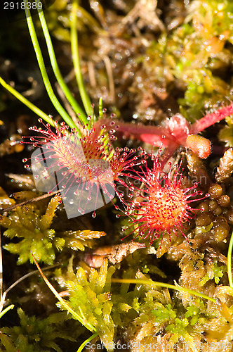
{"label": "thin green stem lying nearly horizontal across the lower-right moss", "polygon": [[175,286],[172,284],[166,284],[164,282],[157,282],[152,280],[145,280],[145,279],[112,279],[112,282],[119,282],[122,284],[145,284],[145,285],[152,285],[152,286],[159,286],[159,287],[166,287],[167,289],[175,289],[176,291],[187,292],[187,294],[192,294],[195,296],[199,296],[201,298],[208,299],[208,301],[215,302],[215,299],[206,294],[201,294],[200,292],[193,291],[192,289],[184,289],[180,286]]}

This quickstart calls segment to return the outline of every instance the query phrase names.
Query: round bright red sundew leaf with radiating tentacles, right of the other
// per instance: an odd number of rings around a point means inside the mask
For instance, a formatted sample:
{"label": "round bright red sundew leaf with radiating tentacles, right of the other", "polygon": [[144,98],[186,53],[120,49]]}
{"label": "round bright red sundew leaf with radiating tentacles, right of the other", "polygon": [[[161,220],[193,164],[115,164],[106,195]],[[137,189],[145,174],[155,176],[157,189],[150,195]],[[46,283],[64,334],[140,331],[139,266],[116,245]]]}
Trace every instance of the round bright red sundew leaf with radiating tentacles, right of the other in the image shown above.
{"label": "round bright red sundew leaf with radiating tentacles, right of the other", "polygon": [[192,220],[197,210],[192,208],[190,203],[208,196],[206,194],[200,197],[202,192],[197,191],[197,183],[183,189],[181,162],[173,168],[170,163],[166,173],[159,163],[160,154],[161,149],[157,157],[152,158],[152,168],[145,163],[145,168],[136,172],[141,186],[135,187],[133,200],[124,202],[124,213],[130,215],[129,228],[133,229],[131,233],[134,232],[136,237],[140,236],[142,239],[149,238],[149,244],[159,237],[162,240],[164,233],[168,233],[170,237],[171,232],[176,236],[182,234],[187,239],[183,232],[183,223]]}

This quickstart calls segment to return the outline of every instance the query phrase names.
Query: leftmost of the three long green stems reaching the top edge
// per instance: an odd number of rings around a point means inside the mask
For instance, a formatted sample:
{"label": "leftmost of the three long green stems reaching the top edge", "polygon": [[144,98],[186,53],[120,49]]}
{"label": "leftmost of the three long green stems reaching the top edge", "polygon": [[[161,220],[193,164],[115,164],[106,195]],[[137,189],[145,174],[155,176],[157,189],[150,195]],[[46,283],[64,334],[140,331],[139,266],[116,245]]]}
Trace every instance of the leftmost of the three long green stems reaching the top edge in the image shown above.
{"label": "leftmost of the three long green stems reaching the top edge", "polygon": [[39,68],[41,70],[41,75],[42,75],[44,85],[46,87],[46,91],[48,93],[49,99],[51,99],[53,106],[58,111],[58,113],[62,116],[63,120],[65,120],[67,125],[69,125],[69,127],[71,127],[71,128],[75,128],[75,130],[77,130],[77,126],[75,125],[74,121],[67,114],[65,109],[61,106],[60,102],[58,101],[57,97],[55,96],[55,94],[53,92],[53,88],[51,87],[51,82],[49,81],[48,74],[46,72],[46,66],[44,64],[44,59],[43,59],[43,56],[41,53],[41,48],[39,46],[39,42],[38,42],[38,39],[36,36],[36,30],[34,28],[32,16],[31,16],[29,9],[27,8],[27,0],[23,0],[23,1],[25,3],[25,14],[26,14],[26,18],[27,18],[27,26],[29,29],[29,34],[32,39],[32,44],[34,46],[34,51],[36,53],[36,58],[37,58],[37,61],[39,64]]}

